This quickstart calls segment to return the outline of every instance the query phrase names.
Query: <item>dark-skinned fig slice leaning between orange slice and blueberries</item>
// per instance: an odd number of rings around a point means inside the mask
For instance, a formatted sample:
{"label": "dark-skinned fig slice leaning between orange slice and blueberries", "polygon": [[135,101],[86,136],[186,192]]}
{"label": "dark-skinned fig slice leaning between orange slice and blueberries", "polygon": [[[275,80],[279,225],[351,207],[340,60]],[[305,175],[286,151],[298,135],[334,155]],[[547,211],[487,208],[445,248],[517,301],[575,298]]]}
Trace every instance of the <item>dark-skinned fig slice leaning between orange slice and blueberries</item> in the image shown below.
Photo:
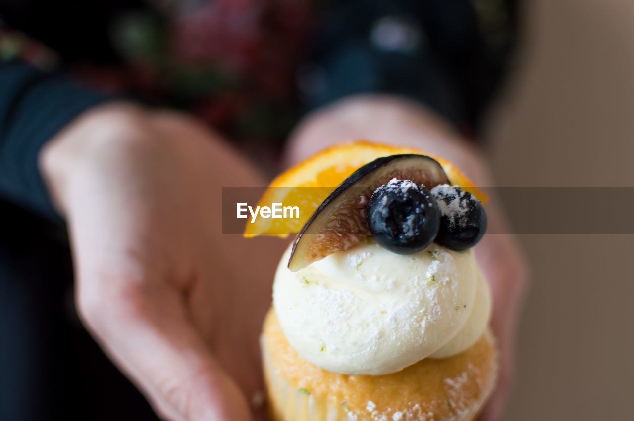
{"label": "dark-skinned fig slice leaning between orange slice and blueberries", "polygon": [[370,230],[365,208],[372,193],[394,178],[412,180],[427,189],[451,184],[443,167],[426,155],[385,156],[363,165],[344,180],[306,221],[293,242],[288,268],[299,270],[368,239]]}

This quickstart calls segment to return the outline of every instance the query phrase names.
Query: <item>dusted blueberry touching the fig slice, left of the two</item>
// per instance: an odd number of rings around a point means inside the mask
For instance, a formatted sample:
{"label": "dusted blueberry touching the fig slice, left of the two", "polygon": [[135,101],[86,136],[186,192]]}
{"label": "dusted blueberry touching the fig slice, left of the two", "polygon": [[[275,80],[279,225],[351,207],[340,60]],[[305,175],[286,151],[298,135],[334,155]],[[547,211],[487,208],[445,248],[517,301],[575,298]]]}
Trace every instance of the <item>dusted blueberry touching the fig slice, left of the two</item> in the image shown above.
{"label": "dusted blueberry touching the fig slice, left of the two", "polygon": [[394,253],[411,254],[434,241],[441,213],[424,185],[392,179],[372,194],[366,217],[378,244]]}

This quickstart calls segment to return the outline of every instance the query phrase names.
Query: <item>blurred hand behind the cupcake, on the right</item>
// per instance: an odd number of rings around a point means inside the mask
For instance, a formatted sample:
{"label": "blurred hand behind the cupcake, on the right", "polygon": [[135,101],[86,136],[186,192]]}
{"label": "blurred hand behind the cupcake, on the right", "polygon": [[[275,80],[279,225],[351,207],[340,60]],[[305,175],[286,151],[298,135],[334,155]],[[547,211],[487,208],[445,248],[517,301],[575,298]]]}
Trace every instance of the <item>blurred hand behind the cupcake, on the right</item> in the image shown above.
{"label": "blurred hand behind the cupcake, on the right", "polygon": [[[411,146],[446,158],[478,187],[493,187],[484,159],[440,118],[403,99],[356,96],[308,115],[292,135],[286,163],[292,165],[332,144],[366,139]],[[486,204],[489,232],[509,232],[496,198]],[[527,267],[514,236],[489,234],[475,247],[493,294],[491,326],[500,351],[498,384],[479,419],[500,417],[512,385],[515,330],[526,289]]]}

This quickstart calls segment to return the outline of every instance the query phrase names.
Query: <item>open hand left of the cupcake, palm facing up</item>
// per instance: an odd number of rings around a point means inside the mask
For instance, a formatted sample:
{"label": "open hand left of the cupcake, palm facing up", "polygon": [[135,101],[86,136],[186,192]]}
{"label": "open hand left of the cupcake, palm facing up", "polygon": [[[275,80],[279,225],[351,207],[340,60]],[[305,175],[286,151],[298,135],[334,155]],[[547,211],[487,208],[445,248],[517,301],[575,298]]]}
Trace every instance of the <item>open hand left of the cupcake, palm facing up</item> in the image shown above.
{"label": "open hand left of the cupcake, palm facing up", "polygon": [[221,187],[262,185],[217,135],[127,104],[80,116],[41,153],[70,231],[76,304],[169,420],[250,420],[258,338],[284,244],[221,235]]}

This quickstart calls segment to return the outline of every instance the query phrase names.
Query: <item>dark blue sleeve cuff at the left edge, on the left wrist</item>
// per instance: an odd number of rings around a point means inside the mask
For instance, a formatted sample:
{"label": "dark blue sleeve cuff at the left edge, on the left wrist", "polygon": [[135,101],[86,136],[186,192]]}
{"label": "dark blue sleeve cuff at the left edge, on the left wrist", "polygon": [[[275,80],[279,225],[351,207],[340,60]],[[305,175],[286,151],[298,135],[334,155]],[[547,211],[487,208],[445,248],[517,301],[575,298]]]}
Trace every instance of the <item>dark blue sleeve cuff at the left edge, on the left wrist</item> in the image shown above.
{"label": "dark blue sleeve cuff at the left edge, on the left wrist", "polygon": [[0,196],[58,219],[37,165],[42,145],[82,111],[113,99],[62,73],[0,64]]}

